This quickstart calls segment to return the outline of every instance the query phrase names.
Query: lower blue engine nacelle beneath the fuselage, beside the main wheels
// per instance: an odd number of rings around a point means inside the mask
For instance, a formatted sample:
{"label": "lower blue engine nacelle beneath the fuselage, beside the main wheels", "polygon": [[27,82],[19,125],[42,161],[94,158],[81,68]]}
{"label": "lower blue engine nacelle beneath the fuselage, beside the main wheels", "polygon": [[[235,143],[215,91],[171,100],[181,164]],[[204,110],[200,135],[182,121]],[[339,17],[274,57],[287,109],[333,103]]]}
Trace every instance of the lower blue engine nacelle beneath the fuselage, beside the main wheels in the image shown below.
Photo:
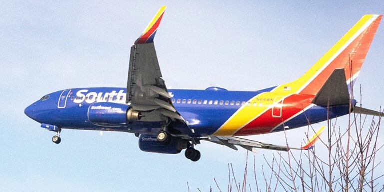
{"label": "lower blue engine nacelle beneath the fuselage, beside the main wheels", "polygon": [[156,136],[140,135],[138,146],[145,152],[156,152],[165,154],[178,154],[182,149],[187,148],[189,141],[170,137],[167,143],[157,141]]}

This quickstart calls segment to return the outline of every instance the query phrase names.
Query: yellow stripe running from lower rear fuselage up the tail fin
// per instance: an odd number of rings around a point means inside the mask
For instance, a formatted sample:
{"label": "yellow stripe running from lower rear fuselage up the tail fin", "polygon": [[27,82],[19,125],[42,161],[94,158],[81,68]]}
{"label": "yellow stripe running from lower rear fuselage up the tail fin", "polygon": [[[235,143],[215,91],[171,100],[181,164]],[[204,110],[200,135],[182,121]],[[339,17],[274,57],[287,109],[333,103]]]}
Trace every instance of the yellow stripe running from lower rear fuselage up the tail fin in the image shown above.
{"label": "yellow stripe running from lower rear fuselage up the tail fin", "polygon": [[[373,15],[363,16],[332,48],[329,49],[303,76],[295,81],[282,84],[274,88],[271,92],[261,93],[248,102],[257,102],[257,99],[263,97],[282,96],[286,97],[290,94],[299,93],[321,70],[328,65],[339,53],[340,49],[344,49],[348,43],[351,43],[356,38],[356,33],[361,33],[363,27],[367,27],[365,24],[372,18]],[[365,25],[365,26],[364,26]],[[369,25],[368,25],[369,26]],[[342,50],[341,50],[342,51]],[[277,102],[277,100],[274,100]],[[270,108],[272,104],[263,104],[262,107],[252,107],[244,105],[239,108],[213,135],[229,136],[235,134],[242,127],[253,121],[260,116],[266,110]]]}

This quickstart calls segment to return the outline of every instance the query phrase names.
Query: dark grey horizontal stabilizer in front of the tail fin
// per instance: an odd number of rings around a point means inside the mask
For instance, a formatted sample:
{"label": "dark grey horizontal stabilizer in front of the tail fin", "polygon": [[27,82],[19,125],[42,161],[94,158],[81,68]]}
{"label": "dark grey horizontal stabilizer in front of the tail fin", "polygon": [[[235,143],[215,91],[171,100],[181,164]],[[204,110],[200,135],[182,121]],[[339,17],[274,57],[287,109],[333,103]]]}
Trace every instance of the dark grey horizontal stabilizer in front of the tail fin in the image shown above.
{"label": "dark grey horizontal stabilizer in front of the tail fin", "polygon": [[312,103],[319,106],[349,104],[349,92],[345,70],[335,69],[314,97]]}

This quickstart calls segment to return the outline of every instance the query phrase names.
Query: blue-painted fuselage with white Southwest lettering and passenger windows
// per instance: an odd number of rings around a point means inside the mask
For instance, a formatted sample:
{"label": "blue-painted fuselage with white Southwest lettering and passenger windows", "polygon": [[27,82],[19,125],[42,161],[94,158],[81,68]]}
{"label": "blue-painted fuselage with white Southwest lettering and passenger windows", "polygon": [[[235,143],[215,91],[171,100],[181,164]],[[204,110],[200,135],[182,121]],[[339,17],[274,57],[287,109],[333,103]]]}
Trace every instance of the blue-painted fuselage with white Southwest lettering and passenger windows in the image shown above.
{"label": "blue-painted fuselage with white Southwest lettering and passenger windows", "polygon": [[[170,89],[169,94],[175,109],[185,119],[189,127],[195,130],[195,134],[190,136],[207,136],[214,134],[243,105],[253,104],[247,103],[248,100],[273,88],[254,92],[227,91],[219,88],[209,88],[207,90]],[[25,114],[39,123],[54,125],[61,129],[110,130],[156,134],[163,122],[134,121],[124,125],[100,126],[89,121],[88,109],[91,104],[96,102],[125,104],[125,91],[125,88],[106,87],[61,90],[45,95],[40,100],[31,104],[25,109]],[[262,103],[254,105],[258,107]],[[273,104],[273,101],[265,101],[265,103]],[[348,105],[332,107],[329,117],[334,118],[345,115],[348,111]],[[308,119],[308,116],[310,116],[310,119]],[[314,105],[272,131],[281,131],[284,127],[297,128],[309,123],[321,122],[327,120],[327,118],[327,109]],[[185,127],[174,128],[179,129],[181,132],[187,132],[183,131]]]}

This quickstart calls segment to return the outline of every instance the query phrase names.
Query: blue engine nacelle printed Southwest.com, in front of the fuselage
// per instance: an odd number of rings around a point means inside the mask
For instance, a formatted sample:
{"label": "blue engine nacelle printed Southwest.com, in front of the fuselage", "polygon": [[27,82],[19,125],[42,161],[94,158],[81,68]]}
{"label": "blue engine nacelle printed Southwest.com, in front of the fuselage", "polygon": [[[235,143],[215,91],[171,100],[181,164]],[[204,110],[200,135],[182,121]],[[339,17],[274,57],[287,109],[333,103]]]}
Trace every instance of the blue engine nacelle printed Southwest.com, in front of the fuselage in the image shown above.
{"label": "blue engine nacelle printed Southwest.com, in front of the fuselage", "polygon": [[89,121],[102,126],[121,125],[140,118],[140,112],[125,104],[96,102],[88,108]]}

